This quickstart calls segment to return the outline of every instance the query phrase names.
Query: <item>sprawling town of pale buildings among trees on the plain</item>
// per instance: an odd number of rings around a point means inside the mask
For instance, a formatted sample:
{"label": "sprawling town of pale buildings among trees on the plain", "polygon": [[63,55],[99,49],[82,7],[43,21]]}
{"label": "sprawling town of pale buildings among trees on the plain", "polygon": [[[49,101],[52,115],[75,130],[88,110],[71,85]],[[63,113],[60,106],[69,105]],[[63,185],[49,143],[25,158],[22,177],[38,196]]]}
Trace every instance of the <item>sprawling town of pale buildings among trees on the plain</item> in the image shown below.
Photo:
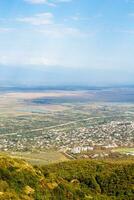
{"label": "sprawling town of pale buildings among trees on the plain", "polygon": [[[87,126],[87,124],[86,124]],[[69,155],[96,149],[134,147],[134,122],[111,121],[89,127],[63,126],[30,134],[12,133],[0,136],[1,151],[45,151],[56,149]],[[130,152],[133,155],[133,152]],[[94,156],[94,154],[93,154]],[[97,155],[96,155],[97,156]],[[107,156],[105,155],[101,155]]]}

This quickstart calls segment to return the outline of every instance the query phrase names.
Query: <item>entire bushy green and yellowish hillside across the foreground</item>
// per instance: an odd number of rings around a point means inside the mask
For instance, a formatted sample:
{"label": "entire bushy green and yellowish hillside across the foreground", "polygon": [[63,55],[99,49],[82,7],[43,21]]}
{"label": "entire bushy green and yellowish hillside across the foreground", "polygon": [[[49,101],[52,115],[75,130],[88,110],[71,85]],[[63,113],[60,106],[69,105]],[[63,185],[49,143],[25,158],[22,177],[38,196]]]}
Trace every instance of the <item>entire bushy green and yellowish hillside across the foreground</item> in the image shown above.
{"label": "entire bushy green and yellowish hillside across the foreground", "polygon": [[0,200],[134,199],[134,160],[77,160],[43,167],[0,156]]}

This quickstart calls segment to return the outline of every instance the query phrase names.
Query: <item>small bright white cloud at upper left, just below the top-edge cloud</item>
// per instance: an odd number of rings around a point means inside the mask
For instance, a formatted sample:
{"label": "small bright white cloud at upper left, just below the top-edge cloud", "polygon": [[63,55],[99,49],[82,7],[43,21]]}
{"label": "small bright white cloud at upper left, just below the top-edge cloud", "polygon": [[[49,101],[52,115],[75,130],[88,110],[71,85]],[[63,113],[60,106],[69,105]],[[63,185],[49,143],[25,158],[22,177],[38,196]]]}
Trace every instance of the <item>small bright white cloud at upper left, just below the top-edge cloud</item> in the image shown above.
{"label": "small bright white cloud at upper left, just below the top-edge cloud", "polygon": [[17,21],[29,23],[32,25],[49,25],[53,23],[53,14],[39,13],[32,17],[17,18]]}

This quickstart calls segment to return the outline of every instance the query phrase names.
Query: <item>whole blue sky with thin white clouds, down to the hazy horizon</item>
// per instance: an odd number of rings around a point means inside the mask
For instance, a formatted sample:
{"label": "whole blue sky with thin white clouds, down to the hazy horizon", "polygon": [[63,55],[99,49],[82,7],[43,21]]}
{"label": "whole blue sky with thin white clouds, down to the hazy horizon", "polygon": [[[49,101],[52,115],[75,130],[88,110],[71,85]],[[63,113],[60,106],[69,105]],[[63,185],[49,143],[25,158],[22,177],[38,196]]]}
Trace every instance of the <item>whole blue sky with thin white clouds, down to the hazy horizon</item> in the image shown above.
{"label": "whole blue sky with thin white clouds, down to the hazy horizon", "polygon": [[0,84],[134,84],[134,0],[0,0]]}

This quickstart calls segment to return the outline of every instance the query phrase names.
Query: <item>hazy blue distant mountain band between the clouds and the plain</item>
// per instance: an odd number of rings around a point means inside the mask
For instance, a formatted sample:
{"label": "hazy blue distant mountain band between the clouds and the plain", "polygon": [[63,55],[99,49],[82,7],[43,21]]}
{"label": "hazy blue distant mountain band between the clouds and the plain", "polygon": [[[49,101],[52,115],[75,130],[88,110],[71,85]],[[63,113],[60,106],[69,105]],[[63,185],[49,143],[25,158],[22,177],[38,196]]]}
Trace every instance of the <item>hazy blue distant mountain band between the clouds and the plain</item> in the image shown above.
{"label": "hazy blue distant mountain band between the clouds and the plain", "polygon": [[134,85],[133,73],[112,69],[59,66],[0,66],[0,85],[120,86]]}

